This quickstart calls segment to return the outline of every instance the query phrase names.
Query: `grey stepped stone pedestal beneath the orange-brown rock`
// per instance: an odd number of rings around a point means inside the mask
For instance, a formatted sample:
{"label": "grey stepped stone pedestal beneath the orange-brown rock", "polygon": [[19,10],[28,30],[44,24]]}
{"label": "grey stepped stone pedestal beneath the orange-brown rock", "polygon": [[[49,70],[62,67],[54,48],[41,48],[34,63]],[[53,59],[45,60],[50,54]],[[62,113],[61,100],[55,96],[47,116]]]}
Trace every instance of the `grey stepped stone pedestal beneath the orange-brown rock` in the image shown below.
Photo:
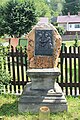
{"label": "grey stepped stone pedestal beneath the orange-brown rock", "polygon": [[56,83],[60,75],[58,68],[29,69],[31,78],[18,102],[19,112],[38,112],[41,106],[49,107],[51,112],[67,111],[67,101]]}

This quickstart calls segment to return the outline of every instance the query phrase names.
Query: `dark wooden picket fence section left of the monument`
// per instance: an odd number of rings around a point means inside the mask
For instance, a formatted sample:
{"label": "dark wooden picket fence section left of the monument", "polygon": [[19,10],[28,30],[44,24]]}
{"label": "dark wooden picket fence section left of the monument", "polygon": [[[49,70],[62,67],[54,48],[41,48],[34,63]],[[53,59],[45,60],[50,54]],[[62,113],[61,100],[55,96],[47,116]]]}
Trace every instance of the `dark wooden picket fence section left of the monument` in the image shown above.
{"label": "dark wooden picket fence section left of the monument", "polygon": [[[22,93],[24,86],[28,82],[27,77],[27,50],[26,47],[13,46],[7,48],[8,53],[5,60],[5,69],[9,71],[12,80],[9,85],[5,85],[4,92]],[[4,49],[3,49],[4,52]]]}

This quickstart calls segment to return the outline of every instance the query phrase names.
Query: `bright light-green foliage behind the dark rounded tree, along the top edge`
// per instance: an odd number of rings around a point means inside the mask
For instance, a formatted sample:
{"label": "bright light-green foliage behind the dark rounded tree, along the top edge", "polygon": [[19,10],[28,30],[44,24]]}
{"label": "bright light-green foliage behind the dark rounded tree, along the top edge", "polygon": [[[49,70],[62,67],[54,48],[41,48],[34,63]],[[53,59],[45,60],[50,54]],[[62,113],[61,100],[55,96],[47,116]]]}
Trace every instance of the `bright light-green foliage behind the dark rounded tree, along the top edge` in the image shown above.
{"label": "bright light-green foliage behind the dark rounded tree, along the top edge", "polygon": [[[0,0],[0,5],[6,4],[10,0]],[[14,0],[15,1],[15,0]],[[27,0],[16,0],[19,3],[24,3]],[[63,2],[65,0],[29,0],[30,2],[34,1],[36,6],[36,14],[38,17],[51,17],[58,16],[61,14]]]}

